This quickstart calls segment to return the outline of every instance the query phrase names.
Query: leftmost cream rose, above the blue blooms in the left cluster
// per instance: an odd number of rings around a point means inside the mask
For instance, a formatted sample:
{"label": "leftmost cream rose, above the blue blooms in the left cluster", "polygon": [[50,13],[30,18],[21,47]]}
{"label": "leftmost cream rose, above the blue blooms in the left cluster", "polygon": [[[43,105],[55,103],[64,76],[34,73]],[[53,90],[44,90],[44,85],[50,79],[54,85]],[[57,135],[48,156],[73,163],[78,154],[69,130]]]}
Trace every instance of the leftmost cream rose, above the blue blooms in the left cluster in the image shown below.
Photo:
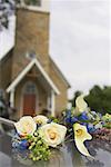
{"label": "leftmost cream rose, above the blue blooms in the left cluster", "polygon": [[30,116],[22,117],[18,122],[14,124],[14,126],[18,134],[21,136],[33,135],[37,129],[37,124]]}

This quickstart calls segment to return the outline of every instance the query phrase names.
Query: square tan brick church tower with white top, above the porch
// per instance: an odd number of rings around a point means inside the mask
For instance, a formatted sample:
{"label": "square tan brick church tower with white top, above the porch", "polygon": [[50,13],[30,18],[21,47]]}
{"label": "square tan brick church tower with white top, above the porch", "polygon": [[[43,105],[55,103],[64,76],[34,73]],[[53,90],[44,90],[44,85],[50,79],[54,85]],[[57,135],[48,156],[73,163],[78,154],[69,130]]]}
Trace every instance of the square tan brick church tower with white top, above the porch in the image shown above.
{"label": "square tan brick church tower with white top, above the porch", "polygon": [[49,0],[18,2],[12,79],[33,57],[38,58],[47,72],[49,71]]}

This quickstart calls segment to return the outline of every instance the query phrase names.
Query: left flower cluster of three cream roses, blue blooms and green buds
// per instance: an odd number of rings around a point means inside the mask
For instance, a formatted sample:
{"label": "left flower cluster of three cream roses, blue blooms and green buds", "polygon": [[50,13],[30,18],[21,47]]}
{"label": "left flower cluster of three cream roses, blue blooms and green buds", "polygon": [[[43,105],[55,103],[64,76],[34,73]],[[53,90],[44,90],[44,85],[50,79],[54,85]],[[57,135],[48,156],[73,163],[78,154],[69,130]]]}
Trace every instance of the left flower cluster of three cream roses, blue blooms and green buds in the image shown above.
{"label": "left flower cluster of three cream roses, blue blooms and green buds", "polygon": [[67,127],[49,122],[46,116],[24,116],[14,124],[17,135],[12,139],[12,147],[28,149],[28,157],[32,160],[48,160],[51,148],[62,144],[67,134]]}

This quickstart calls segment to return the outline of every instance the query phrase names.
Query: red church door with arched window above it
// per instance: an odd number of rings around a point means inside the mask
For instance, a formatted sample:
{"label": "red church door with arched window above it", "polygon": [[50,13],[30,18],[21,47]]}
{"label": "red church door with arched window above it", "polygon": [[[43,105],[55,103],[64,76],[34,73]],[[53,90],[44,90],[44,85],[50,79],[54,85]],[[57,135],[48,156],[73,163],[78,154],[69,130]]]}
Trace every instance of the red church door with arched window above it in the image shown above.
{"label": "red church door with arched window above it", "polygon": [[23,87],[23,115],[36,115],[37,102],[37,86],[34,82],[28,81]]}

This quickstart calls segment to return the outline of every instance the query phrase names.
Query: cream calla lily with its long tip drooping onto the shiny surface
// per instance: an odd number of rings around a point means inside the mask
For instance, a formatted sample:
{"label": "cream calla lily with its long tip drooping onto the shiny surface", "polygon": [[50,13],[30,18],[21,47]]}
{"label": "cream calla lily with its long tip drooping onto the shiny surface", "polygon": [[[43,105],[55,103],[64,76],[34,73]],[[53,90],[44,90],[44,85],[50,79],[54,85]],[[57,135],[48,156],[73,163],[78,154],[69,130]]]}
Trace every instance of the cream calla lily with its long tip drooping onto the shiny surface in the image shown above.
{"label": "cream calla lily with its long tip drooping onto the shiny surface", "polygon": [[84,155],[91,157],[89,154],[88,149],[84,146],[84,140],[91,140],[92,136],[88,132],[87,127],[82,126],[78,122],[73,125],[73,130],[74,130],[74,140],[75,140],[75,146],[78,150]]}

